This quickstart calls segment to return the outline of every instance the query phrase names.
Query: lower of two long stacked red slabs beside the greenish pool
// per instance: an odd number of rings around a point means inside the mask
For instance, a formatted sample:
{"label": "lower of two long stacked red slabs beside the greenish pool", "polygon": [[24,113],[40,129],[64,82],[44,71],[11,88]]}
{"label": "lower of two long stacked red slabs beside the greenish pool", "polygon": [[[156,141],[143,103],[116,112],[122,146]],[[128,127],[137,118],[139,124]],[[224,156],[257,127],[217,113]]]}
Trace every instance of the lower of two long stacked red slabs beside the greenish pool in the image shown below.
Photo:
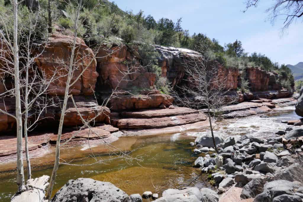
{"label": "lower of two long stacked red slabs beside the greenish pool", "polygon": [[197,121],[205,121],[206,119],[205,114],[198,113],[161,118],[125,118],[116,120],[115,124],[119,129],[159,128],[190,124]]}

